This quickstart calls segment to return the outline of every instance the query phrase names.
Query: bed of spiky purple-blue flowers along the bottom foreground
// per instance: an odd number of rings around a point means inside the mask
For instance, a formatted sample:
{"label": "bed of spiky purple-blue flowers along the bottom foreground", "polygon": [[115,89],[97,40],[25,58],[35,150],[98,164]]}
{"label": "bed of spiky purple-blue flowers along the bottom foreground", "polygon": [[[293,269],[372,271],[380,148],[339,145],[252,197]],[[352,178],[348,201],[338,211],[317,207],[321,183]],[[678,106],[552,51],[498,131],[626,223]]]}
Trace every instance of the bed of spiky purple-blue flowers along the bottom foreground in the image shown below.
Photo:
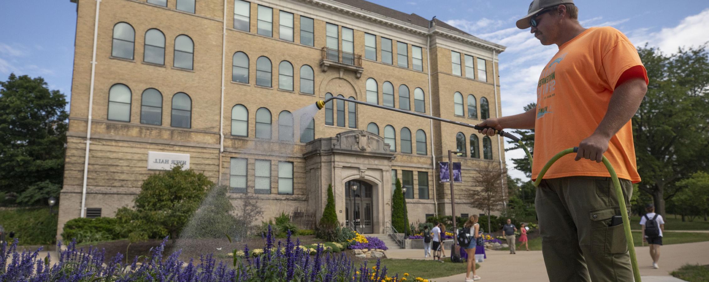
{"label": "bed of spiky purple-blue flowers along the bottom foreground", "polygon": [[[357,244],[386,248],[375,237],[367,241]],[[213,254],[189,262],[179,260],[181,251],[164,257],[166,242],[167,238],[149,256],[135,256],[131,264],[124,264],[121,254],[106,259],[97,248],[77,249],[75,241],[60,252],[59,258],[53,258],[57,262],[49,256],[38,259],[42,248],[20,254],[15,239],[11,245],[4,242],[0,246],[0,264],[7,265],[5,272],[0,271],[0,281],[406,281],[406,275],[389,277],[379,260],[372,269],[367,261],[357,268],[344,253],[325,252],[323,244],[318,244],[316,253],[310,256],[310,249],[304,250],[298,240],[293,242],[290,232],[285,243],[274,244],[270,228],[266,246],[234,249],[231,264],[217,264]],[[57,246],[62,249],[61,242]]]}

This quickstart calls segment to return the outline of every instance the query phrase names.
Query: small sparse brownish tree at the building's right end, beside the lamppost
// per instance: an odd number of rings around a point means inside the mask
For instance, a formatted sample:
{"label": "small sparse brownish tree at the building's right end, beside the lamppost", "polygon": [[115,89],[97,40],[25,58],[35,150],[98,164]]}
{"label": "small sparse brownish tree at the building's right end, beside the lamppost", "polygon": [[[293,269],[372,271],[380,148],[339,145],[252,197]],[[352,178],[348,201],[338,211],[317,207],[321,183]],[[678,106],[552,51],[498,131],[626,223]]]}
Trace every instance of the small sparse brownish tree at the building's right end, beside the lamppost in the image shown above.
{"label": "small sparse brownish tree at the building's right end, beside the lamppost", "polygon": [[[487,162],[486,165],[476,171],[477,176],[473,177],[473,186],[478,186],[480,190],[469,192],[471,206],[484,210],[488,215],[488,226],[490,225],[490,213],[503,210],[502,203],[506,201],[505,194],[500,189],[502,177],[507,174],[507,169],[500,169],[497,164]],[[488,230],[491,232],[492,230]]]}

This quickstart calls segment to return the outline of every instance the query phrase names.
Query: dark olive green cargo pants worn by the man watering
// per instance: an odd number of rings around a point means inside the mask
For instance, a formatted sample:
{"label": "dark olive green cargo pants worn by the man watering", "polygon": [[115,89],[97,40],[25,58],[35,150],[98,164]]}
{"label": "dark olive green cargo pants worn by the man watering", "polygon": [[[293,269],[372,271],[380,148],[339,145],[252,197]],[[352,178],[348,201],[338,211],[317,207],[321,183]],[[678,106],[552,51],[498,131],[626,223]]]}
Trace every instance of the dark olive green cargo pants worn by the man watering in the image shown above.
{"label": "dark olive green cargo pants worn by the man watering", "polygon": [[[630,214],[632,183],[620,179]],[[542,179],[535,199],[549,281],[633,281],[610,177]]]}

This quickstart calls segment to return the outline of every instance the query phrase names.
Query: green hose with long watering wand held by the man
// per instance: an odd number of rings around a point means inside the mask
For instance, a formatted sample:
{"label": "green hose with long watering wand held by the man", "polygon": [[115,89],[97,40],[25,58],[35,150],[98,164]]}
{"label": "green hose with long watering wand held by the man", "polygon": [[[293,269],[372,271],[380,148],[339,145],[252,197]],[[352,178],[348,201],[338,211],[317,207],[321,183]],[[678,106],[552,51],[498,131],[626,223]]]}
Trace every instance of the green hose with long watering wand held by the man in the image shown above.
{"label": "green hose with long watering wand held by the man", "polygon": [[[390,108],[387,106],[381,106],[381,105],[377,105],[374,103],[357,101],[354,99],[348,99],[348,98],[344,98],[344,97],[335,96],[335,97],[328,98],[325,101],[323,101],[323,100],[317,101],[315,104],[318,107],[318,110],[321,110],[322,108],[325,108],[325,103],[328,103],[329,101],[332,101],[333,99],[338,99],[338,100],[352,102],[352,103],[358,103],[358,104],[364,105],[364,106],[372,106],[374,108],[381,108],[384,110],[395,111],[398,113],[406,113],[407,115],[415,115],[415,116],[418,116],[421,118],[428,118],[428,119],[432,119],[432,120],[442,121],[444,123],[452,123],[454,125],[461,125],[461,126],[464,126],[467,128],[474,128],[476,130],[484,130],[484,129],[495,130],[495,135],[501,135],[504,137],[508,137],[511,140],[514,140],[515,142],[517,142],[520,145],[520,147],[522,147],[522,149],[525,150],[525,153],[527,154],[527,159],[529,159],[529,162],[530,162],[530,167],[532,167],[532,154],[530,154],[530,151],[527,149],[527,146],[525,146],[525,144],[524,144],[524,142],[522,142],[522,140],[520,140],[515,135],[511,135],[509,132],[504,132],[503,130],[496,130],[494,128],[490,128],[487,126],[479,126],[479,125],[471,125],[469,123],[461,123],[459,121],[447,120],[445,118],[438,118],[435,116],[424,115],[424,114],[415,113],[412,111],[404,111],[404,110],[401,110],[398,108]],[[559,154],[554,155],[554,157],[552,157],[552,159],[549,159],[549,162],[547,162],[547,164],[545,164],[545,166],[542,168],[542,171],[540,171],[539,176],[537,176],[537,180],[534,182],[534,186],[535,187],[539,186],[540,182],[542,181],[542,177],[547,173],[547,170],[549,169],[549,167],[552,167],[552,164],[554,164],[554,162],[557,162],[557,159],[564,157],[564,155],[566,155],[566,154],[571,154],[571,153],[575,153],[575,152],[579,152],[579,147],[573,147],[573,148],[563,150],[562,152],[559,152]],[[608,169],[608,173],[610,173],[610,177],[613,179],[613,186],[615,186],[615,196],[617,197],[618,205],[620,205],[620,215],[622,215],[622,218],[623,218],[623,230],[625,231],[625,242],[627,242],[627,249],[630,254],[630,264],[632,264],[632,272],[633,272],[633,275],[635,276],[635,281],[641,282],[640,281],[640,269],[637,266],[637,256],[635,255],[635,244],[633,244],[633,242],[632,242],[632,233],[630,232],[630,219],[628,218],[628,215],[627,215],[627,208],[625,206],[625,199],[623,198],[623,190],[620,188],[620,180],[618,180],[618,175],[615,174],[615,169],[613,169],[613,166],[610,165],[610,162],[608,162],[608,159],[606,159],[605,156],[603,156],[603,164],[605,165],[605,168]]]}

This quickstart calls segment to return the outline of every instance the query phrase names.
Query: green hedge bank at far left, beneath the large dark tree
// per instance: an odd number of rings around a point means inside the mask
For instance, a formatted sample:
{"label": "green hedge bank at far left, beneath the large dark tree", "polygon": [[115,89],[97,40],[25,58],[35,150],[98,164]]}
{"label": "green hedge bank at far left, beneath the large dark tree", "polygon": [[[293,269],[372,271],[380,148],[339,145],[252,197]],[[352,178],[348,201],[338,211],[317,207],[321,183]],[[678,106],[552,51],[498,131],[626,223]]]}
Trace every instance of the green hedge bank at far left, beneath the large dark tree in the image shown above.
{"label": "green hedge bank at far left, beneath the large dark tree", "polygon": [[[49,208],[6,208],[0,210],[0,225],[5,232],[15,232],[20,244],[54,244],[57,240],[57,214]],[[5,239],[11,241],[9,236]]]}

